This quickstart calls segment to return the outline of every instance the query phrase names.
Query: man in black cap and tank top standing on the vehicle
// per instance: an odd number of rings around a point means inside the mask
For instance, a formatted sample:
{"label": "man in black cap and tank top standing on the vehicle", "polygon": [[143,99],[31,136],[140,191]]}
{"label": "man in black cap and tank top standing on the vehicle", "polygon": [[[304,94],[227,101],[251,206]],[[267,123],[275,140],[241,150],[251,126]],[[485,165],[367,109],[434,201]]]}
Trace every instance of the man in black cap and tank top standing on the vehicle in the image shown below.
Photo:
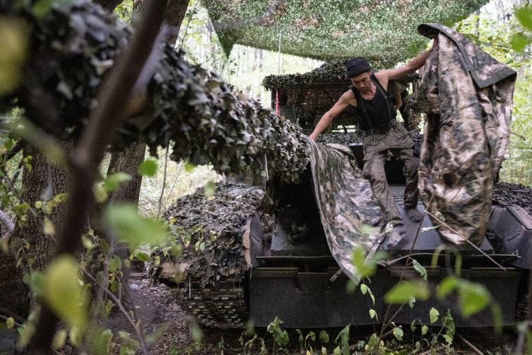
{"label": "man in black cap and tank top standing on the vehicle", "polygon": [[406,129],[395,120],[395,108],[387,93],[388,82],[399,79],[423,67],[425,60],[434,47],[403,67],[390,70],[381,70],[372,74],[371,66],[366,59],[357,57],[347,62],[345,70],[352,85],[345,91],[331,110],[321,117],[316,128],[310,135],[315,139],[324,131],[334,117],[345,110],[349,105],[354,106],[359,129],[363,131],[364,170],[363,175],[369,180],[373,195],[383,210],[385,224],[394,226],[388,245],[394,245],[406,233],[401,216],[394,202],[394,194],[386,181],[384,164],[387,152],[404,162],[404,175],[406,188],[404,191],[404,206],[408,217],[412,221],[421,221],[422,215],[417,209],[418,205],[418,158],[413,156],[413,141],[408,136]]}

